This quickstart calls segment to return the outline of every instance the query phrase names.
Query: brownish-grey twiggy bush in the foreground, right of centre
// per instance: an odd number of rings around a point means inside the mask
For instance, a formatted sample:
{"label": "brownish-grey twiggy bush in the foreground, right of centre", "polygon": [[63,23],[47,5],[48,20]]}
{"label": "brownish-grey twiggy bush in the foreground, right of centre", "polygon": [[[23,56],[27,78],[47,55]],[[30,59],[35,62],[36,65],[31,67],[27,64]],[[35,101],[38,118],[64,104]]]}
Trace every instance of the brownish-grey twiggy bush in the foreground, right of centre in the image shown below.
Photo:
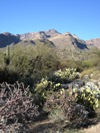
{"label": "brownish-grey twiggy bush in the foreground, right of centre", "polygon": [[49,117],[56,121],[75,119],[83,121],[88,116],[84,106],[77,104],[75,97],[69,95],[64,89],[49,96],[44,107],[49,112]]}

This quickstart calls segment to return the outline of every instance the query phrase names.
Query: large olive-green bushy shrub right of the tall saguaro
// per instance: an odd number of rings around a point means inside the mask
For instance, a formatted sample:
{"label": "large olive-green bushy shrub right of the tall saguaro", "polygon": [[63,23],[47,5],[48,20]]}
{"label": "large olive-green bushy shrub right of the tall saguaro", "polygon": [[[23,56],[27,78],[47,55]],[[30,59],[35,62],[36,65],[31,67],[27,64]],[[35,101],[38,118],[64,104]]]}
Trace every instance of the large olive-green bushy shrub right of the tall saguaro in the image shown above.
{"label": "large olive-green bushy shrub right of the tall saguaro", "polygon": [[16,45],[12,52],[10,70],[18,73],[18,80],[24,84],[28,79],[31,86],[57,70],[60,65],[55,49],[46,45]]}

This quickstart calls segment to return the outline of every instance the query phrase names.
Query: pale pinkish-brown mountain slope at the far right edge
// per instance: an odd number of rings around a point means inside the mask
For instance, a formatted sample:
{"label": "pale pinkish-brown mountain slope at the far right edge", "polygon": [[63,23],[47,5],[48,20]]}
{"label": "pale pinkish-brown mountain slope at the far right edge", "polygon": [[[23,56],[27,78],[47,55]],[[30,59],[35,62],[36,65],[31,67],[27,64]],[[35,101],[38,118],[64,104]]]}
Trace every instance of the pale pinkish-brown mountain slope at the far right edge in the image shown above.
{"label": "pale pinkish-brown mountain slope at the far right edge", "polygon": [[100,48],[100,38],[87,40],[86,44],[89,46],[94,46],[94,47]]}

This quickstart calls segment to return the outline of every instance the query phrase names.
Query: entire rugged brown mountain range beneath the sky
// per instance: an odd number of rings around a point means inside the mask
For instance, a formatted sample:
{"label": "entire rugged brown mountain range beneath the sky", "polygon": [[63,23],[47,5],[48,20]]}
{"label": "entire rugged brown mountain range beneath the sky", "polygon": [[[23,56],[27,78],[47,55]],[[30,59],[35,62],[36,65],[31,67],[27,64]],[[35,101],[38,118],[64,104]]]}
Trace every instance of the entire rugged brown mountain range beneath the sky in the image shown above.
{"label": "entire rugged brown mountain range beneath the sky", "polygon": [[1,33],[0,48],[6,47],[10,44],[49,44],[59,49],[85,50],[89,49],[90,46],[100,48],[100,39],[84,41],[69,32],[61,34],[54,29],[17,35],[8,32]]}

